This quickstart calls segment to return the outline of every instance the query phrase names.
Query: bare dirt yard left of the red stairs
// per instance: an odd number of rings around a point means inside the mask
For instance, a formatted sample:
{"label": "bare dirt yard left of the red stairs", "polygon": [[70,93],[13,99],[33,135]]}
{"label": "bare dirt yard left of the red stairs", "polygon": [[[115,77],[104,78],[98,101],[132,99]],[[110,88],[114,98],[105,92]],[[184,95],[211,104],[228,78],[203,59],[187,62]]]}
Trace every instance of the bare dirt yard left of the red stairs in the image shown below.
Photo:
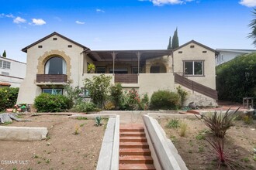
{"label": "bare dirt yard left of the red stairs", "polygon": [[[43,141],[0,141],[0,170],[5,169],[96,169],[107,120],[96,127],[94,120],[61,115],[23,116],[31,122],[8,126],[46,127]],[[78,129],[78,134],[74,134]]]}

